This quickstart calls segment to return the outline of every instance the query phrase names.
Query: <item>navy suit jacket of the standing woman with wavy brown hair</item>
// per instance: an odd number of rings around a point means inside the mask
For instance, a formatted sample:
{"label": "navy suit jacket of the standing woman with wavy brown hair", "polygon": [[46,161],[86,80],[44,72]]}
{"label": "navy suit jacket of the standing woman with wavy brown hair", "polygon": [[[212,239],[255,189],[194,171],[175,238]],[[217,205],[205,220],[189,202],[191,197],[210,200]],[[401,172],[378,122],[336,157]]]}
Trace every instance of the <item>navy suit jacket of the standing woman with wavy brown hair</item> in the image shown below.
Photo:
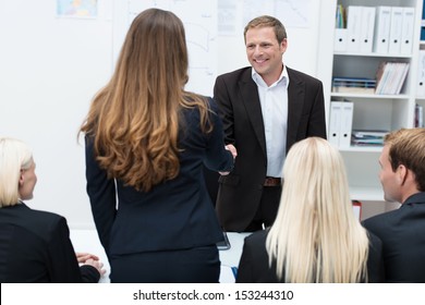
{"label": "navy suit jacket of the standing woman with wavy brown hair", "polygon": [[214,131],[209,134],[201,131],[197,109],[182,110],[180,173],[147,193],[124,186],[120,180],[116,187],[116,181],[99,168],[93,143],[87,139],[87,193],[109,258],[212,245],[223,239],[205,185],[203,164],[228,171],[233,167],[233,157],[224,150],[222,124],[211,99],[210,105]]}

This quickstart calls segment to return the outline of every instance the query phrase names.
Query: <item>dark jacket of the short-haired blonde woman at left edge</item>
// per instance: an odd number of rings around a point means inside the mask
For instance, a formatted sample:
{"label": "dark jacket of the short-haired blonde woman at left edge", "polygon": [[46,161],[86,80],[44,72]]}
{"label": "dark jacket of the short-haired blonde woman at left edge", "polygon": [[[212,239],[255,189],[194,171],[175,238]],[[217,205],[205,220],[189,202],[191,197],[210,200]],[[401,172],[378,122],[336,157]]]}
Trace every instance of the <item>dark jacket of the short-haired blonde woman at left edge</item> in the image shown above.
{"label": "dark jacket of the short-haired blonde woman at left edge", "polygon": [[98,282],[93,266],[78,267],[66,220],[25,204],[0,208],[0,281]]}

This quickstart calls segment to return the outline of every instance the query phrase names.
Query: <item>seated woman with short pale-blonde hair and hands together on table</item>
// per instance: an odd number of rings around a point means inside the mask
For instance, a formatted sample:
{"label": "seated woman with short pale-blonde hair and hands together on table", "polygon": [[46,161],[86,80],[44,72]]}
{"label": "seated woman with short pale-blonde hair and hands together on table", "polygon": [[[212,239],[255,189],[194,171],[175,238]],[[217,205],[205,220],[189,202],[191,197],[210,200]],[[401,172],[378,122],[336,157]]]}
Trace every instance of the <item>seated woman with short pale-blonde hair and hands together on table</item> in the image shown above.
{"label": "seated woman with short pale-blonde hair and hands together on table", "polygon": [[75,254],[66,220],[24,204],[33,198],[35,168],[25,143],[0,137],[0,282],[98,282],[104,264]]}

